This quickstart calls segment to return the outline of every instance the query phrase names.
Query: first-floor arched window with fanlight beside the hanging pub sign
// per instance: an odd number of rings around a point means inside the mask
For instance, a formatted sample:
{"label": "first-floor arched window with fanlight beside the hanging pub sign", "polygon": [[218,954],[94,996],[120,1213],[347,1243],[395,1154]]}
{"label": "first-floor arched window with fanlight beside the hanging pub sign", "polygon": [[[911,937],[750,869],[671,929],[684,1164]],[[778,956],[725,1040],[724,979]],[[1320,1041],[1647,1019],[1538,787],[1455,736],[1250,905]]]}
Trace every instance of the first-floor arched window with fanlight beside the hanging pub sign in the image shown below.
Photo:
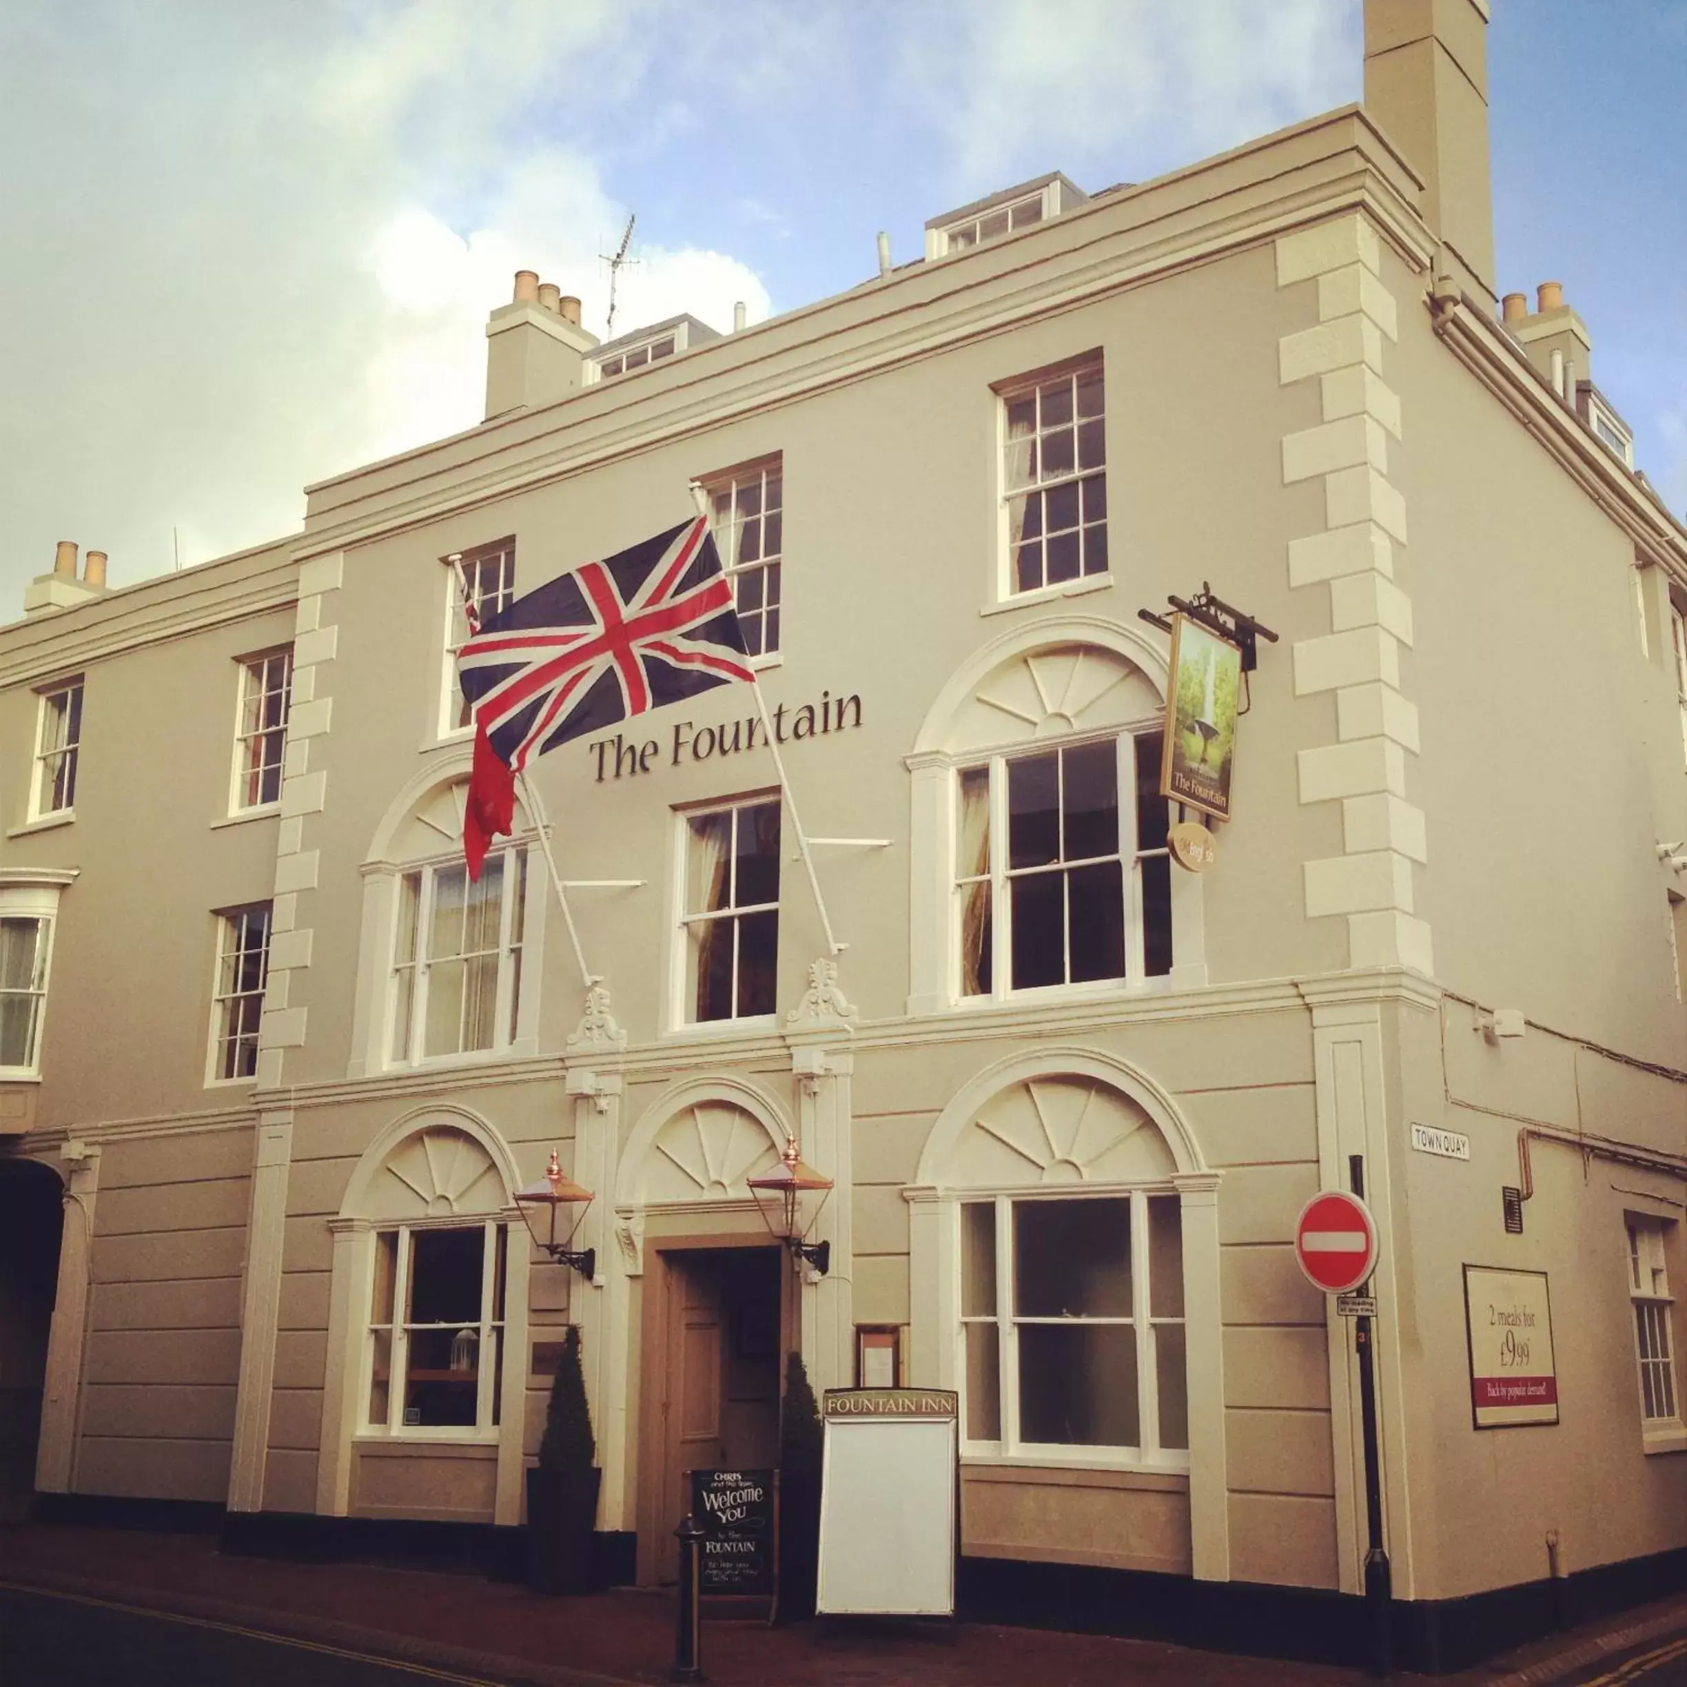
{"label": "first-floor arched window with fanlight beside the hanging pub sign", "polygon": [[1162,678],[1134,634],[1071,621],[950,682],[909,756],[911,1012],[1203,982],[1159,795]]}

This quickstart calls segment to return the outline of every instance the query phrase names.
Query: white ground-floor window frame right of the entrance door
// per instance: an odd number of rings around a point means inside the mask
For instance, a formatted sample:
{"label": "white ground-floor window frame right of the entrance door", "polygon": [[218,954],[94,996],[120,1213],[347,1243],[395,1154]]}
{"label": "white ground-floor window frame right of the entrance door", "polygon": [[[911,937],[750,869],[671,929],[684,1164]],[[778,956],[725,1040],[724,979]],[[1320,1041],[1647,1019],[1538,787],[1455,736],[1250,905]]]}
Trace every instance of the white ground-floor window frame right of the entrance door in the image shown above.
{"label": "white ground-floor window frame right of the entrance door", "polygon": [[[1081,1184],[1061,1186],[1058,1189],[967,1189],[953,1196],[953,1221],[950,1223],[948,1245],[951,1248],[951,1282],[955,1284],[955,1331],[953,1331],[953,1375],[960,1388],[960,1456],[963,1463],[987,1464],[1064,1464],[1081,1469],[1142,1469],[1174,1471],[1189,1469],[1188,1447],[1159,1446],[1159,1370],[1154,1355],[1154,1328],[1162,1324],[1181,1324],[1184,1329],[1184,1393],[1189,1385],[1189,1297],[1188,1284],[1183,1284],[1183,1312],[1178,1318],[1156,1318],[1151,1311],[1149,1282],[1149,1196],[1166,1196],[1179,1203],[1179,1226],[1183,1223],[1183,1203],[1179,1191],[1171,1183],[1154,1184]],[[1137,1345],[1137,1424],[1140,1444],[1135,1447],[1105,1447],[1066,1442],[1026,1442],[1019,1439],[1019,1319],[1014,1314],[1014,1206],[1031,1201],[1086,1201],[1086,1199],[1129,1199],[1130,1201],[1130,1296],[1132,1316],[1129,1323],[1135,1329]],[[975,1203],[995,1205],[995,1316],[967,1318],[963,1289],[963,1218],[962,1206]],[[1183,1257],[1179,1255],[1179,1274]],[[997,1328],[997,1405],[1000,1412],[1000,1441],[972,1441],[967,1436],[967,1324],[994,1323]],[[1076,1319],[1075,1319],[1076,1323]],[[1090,1319],[1083,1323],[1127,1323],[1127,1319]],[[1193,1414],[1191,1414],[1193,1415]]]}

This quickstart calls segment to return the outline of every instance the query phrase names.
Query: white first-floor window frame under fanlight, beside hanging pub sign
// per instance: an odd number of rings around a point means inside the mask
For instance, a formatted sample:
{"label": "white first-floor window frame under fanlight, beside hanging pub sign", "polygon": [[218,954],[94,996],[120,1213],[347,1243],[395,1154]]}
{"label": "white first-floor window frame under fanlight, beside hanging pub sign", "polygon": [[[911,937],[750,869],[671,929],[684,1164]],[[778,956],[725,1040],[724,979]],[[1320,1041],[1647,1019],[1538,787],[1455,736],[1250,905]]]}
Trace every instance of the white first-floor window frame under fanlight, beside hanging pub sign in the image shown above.
{"label": "white first-floor window frame under fanlight, beside hanging pub sign", "polygon": [[[1108,995],[1118,990],[1156,990],[1171,989],[1171,972],[1154,973],[1145,970],[1144,950],[1144,897],[1142,897],[1142,862],[1154,857],[1169,855],[1169,849],[1140,849],[1137,838],[1137,739],[1157,739],[1162,730],[1159,720],[1132,722],[1124,727],[1110,727],[1107,732],[1073,734],[1068,739],[1049,739],[1044,742],[1014,744],[1004,749],[958,756],[950,774],[950,801],[957,822],[951,825],[953,849],[950,854],[950,919],[948,919],[948,987],[950,999],[957,1009],[972,1011],[978,1007],[1000,1005],[1002,1002],[1046,1000],[1051,997]],[[1012,897],[1009,884],[1016,877],[1031,872],[1059,870],[1051,864],[1048,869],[1022,869],[1009,872],[1007,867],[1007,764],[1026,761],[1032,756],[1049,756],[1063,749],[1080,749],[1085,744],[1100,744],[1112,739],[1117,744],[1117,779],[1118,779],[1118,852],[1117,855],[1095,857],[1097,860],[1120,860],[1130,864],[1125,886],[1124,909],[1124,953],[1125,973],[1122,978],[1090,978],[1080,984],[1044,984],[1014,989],[1012,982]],[[1129,747],[1127,747],[1129,746]],[[960,874],[960,862],[955,852],[960,849],[960,781],[962,774],[975,768],[990,771],[990,989],[977,995],[962,994],[962,936],[965,921],[967,886],[980,882],[984,876]],[[1171,798],[1167,798],[1171,803]],[[1167,815],[1171,810],[1167,808]],[[1176,872],[1172,874],[1172,968],[1176,968],[1176,931],[1178,931],[1178,897]],[[1068,957],[1070,970],[1070,957]]]}

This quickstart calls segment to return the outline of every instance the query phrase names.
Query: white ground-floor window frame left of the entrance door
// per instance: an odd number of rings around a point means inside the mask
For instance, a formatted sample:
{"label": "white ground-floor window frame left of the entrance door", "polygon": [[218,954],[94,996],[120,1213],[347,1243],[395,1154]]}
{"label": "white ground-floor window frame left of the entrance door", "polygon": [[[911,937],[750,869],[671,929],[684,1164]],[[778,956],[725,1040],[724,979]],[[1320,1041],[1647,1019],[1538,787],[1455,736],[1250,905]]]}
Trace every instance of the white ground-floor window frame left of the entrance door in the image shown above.
{"label": "white ground-floor window frame left of the entrance door", "polygon": [[[484,1252],[481,1253],[481,1321],[476,1324],[479,1343],[479,1365],[476,1377],[476,1420],[474,1424],[407,1424],[403,1420],[405,1380],[410,1373],[410,1331],[417,1328],[449,1328],[444,1324],[418,1326],[400,1316],[410,1294],[410,1262],[415,1250],[415,1237],[423,1230],[481,1230]],[[509,1255],[525,1237],[509,1237],[509,1221],[491,1215],[484,1220],[412,1220],[398,1225],[375,1225],[369,1237],[369,1296],[363,1309],[363,1358],[359,1365],[358,1390],[358,1436],[390,1437],[393,1441],[471,1441],[498,1442],[501,1424],[511,1410],[508,1399],[499,1399],[498,1377],[503,1372],[504,1351],[509,1343]],[[499,1237],[503,1232],[503,1237]],[[383,1235],[395,1235],[395,1269],[393,1269],[393,1314],[390,1323],[375,1319],[375,1289],[378,1280],[378,1255]],[[503,1248],[503,1272],[499,1274],[499,1247]],[[501,1316],[498,1307],[498,1285],[503,1275],[504,1304]],[[467,1324],[461,1328],[469,1328]],[[496,1360],[488,1361],[493,1351],[493,1331],[498,1331]],[[378,1334],[386,1333],[388,1343],[388,1377],[386,1377],[386,1422],[375,1422],[369,1415],[371,1393],[375,1388],[375,1353]],[[493,1415],[493,1402],[498,1399],[498,1415]],[[521,1409],[521,1402],[515,1402]]]}

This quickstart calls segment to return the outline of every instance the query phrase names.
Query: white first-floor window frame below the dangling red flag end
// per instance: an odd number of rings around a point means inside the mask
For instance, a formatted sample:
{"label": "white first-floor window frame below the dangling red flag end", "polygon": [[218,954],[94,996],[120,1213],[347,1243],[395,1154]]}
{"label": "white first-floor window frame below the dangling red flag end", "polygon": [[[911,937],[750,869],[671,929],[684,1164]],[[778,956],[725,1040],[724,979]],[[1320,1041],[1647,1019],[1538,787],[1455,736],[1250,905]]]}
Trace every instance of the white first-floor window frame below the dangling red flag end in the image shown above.
{"label": "white first-floor window frame below the dangling red flag end", "polygon": [[[528,855],[523,874],[518,857]],[[486,862],[503,860],[503,896],[498,909],[498,995],[493,1005],[493,1043],[484,1049],[459,1049],[445,1054],[422,1053],[422,1039],[427,1032],[427,990],[434,962],[427,957],[427,933],[434,918],[434,894],[442,870],[464,869],[462,855],[442,855],[434,860],[410,862],[393,876],[393,919],[386,943],[386,1011],[381,1016],[381,1063],[391,1071],[410,1071],[434,1066],[461,1066],[474,1061],[509,1059],[523,1043],[531,1039],[533,1002],[538,994],[538,972],[535,955],[535,916],[536,903],[543,901],[543,872],[535,872],[531,855],[525,840],[511,840],[498,849],[488,850]],[[466,870],[466,869],[464,869]],[[482,867],[484,872],[484,867]],[[418,879],[417,896],[417,931],[415,955],[407,962],[400,960],[398,945],[403,931],[403,881],[410,876]],[[521,894],[520,938],[511,941],[516,924],[516,896]],[[511,955],[520,951],[520,994],[516,995],[516,967]],[[450,960],[455,957],[440,957]],[[412,972],[410,992],[410,1034],[403,1054],[395,1049],[398,1036],[398,1017],[402,992],[398,989],[400,973]],[[515,995],[515,1004],[511,997]],[[511,1005],[515,1005],[515,1026],[511,1026]],[[513,1034],[511,1034],[513,1032]]]}

